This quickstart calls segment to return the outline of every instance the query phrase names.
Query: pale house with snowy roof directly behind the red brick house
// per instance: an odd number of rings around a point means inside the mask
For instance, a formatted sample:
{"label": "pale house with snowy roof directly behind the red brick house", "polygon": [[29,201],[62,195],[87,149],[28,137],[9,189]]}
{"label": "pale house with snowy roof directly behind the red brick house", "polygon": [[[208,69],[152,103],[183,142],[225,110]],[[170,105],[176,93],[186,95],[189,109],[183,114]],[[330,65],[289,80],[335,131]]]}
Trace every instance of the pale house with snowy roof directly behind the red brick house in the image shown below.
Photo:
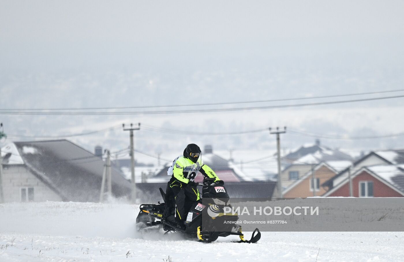
{"label": "pale house with snowy roof directly behind the red brick house", "polygon": [[[377,166],[377,165],[393,165],[404,164],[404,151],[403,150],[385,150],[385,151],[372,151],[362,158],[353,162],[350,167],[350,172],[355,173],[365,166]],[[328,179],[322,184],[323,187],[332,189],[339,185],[342,181],[347,179],[349,167],[342,170],[335,177]]]}

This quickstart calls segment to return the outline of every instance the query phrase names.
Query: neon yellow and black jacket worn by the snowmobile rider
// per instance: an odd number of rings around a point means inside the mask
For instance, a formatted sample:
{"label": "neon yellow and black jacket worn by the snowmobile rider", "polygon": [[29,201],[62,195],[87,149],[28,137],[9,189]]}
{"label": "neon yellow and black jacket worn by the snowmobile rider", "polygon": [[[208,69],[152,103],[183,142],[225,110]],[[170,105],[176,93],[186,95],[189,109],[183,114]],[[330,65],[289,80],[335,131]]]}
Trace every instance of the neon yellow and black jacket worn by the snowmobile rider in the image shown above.
{"label": "neon yellow and black jacket worn by the snowmobile rider", "polygon": [[178,181],[187,184],[189,181],[194,181],[198,171],[205,177],[215,178],[215,181],[220,180],[212,168],[202,162],[202,158],[194,163],[182,155],[174,160],[173,165],[168,168],[167,175],[172,175]]}

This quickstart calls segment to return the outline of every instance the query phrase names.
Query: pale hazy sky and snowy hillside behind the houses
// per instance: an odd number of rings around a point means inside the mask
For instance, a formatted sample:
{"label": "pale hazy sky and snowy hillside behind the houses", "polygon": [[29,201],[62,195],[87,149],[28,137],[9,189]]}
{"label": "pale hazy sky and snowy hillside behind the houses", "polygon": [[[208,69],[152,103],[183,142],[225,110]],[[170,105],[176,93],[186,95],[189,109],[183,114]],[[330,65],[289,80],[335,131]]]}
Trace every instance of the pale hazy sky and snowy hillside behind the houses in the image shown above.
{"label": "pale hazy sky and snowy hillside behind the houses", "polygon": [[[403,1],[2,0],[0,109],[200,104],[403,89],[403,10]],[[404,92],[366,98],[399,94]],[[287,126],[322,135],[377,136],[403,132],[402,101],[132,116],[2,114],[0,122],[7,141],[123,122],[189,132]],[[181,153],[192,142],[221,150],[273,150],[274,138],[268,132],[135,133],[137,149],[163,156]],[[96,144],[114,150],[127,147],[128,132],[69,139],[89,150]],[[282,147],[314,139],[286,133]],[[403,148],[403,142],[404,136],[322,139],[330,147],[359,150]]]}

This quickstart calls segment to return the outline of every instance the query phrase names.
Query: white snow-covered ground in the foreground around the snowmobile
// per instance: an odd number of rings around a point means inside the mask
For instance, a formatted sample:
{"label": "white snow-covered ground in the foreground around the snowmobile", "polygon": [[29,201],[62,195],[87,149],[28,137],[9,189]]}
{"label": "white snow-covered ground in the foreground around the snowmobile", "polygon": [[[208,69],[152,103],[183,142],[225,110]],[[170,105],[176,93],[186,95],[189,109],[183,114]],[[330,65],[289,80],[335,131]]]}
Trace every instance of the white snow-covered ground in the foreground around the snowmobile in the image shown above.
{"label": "white snow-covered ground in the foreground around the snowmobile", "polygon": [[[138,207],[75,202],[0,204],[0,262],[404,261],[404,232],[262,232],[256,244],[204,244],[135,232]],[[246,234],[247,238],[250,234]]]}

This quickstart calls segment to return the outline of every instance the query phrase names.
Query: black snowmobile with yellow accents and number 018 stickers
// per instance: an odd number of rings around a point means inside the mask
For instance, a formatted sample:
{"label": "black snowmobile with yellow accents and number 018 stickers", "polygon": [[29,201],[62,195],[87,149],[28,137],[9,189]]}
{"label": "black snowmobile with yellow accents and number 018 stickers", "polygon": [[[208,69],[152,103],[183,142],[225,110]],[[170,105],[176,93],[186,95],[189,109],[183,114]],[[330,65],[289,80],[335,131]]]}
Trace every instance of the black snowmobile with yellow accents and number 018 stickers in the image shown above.
{"label": "black snowmobile with yellow accents and number 018 stickers", "polygon": [[[252,232],[250,240],[244,239],[244,234],[241,231],[241,226],[235,222],[238,220],[237,214],[224,213],[223,207],[229,206],[229,195],[224,185],[216,185],[213,178],[204,178],[203,184],[197,183],[197,186],[202,186],[202,198],[198,201],[185,201],[185,210],[188,211],[185,221],[185,230],[177,227],[175,222],[175,208],[168,208],[166,205],[172,206],[165,192],[160,187],[160,194],[164,202],[158,204],[141,204],[139,215],[136,218],[137,230],[144,230],[152,226],[162,226],[169,232],[181,232],[190,238],[198,239],[200,242],[210,243],[218,239],[219,236],[238,235],[240,241],[236,243],[256,243],[261,238],[261,233],[258,228]],[[202,217],[208,221],[202,223]],[[213,223],[220,224],[220,228],[216,228]],[[206,220],[204,220],[206,221]],[[223,223],[226,221],[227,223]],[[222,223],[217,223],[222,222]]]}

